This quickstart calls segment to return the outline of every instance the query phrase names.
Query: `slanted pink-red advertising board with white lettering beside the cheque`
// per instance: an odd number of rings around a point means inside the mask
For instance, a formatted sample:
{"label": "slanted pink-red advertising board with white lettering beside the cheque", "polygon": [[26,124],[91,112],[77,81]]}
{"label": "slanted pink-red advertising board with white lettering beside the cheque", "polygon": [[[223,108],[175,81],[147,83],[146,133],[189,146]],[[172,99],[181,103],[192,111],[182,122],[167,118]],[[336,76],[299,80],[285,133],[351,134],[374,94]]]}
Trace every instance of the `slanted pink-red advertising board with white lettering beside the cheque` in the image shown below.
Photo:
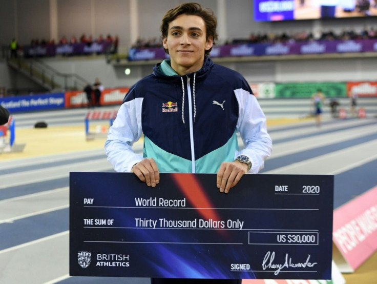
{"label": "slanted pink-red advertising board with white lettering beside the cheque", "polygon": [[334,210],[332,239],[341,272],[353,272],[377,250],[377,186]]}

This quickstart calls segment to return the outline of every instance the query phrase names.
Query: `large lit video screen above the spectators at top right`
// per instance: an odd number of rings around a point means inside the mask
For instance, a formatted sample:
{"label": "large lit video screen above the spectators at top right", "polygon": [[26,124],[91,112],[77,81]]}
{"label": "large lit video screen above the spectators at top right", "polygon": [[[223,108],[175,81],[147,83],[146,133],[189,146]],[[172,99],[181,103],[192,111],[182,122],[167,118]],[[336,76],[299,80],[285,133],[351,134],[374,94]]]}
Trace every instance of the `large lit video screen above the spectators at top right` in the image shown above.
{"label": "large lit video screen above the spectators at top right", "polygon": [[377,16],[377,0],[254,0],[255,21]]}

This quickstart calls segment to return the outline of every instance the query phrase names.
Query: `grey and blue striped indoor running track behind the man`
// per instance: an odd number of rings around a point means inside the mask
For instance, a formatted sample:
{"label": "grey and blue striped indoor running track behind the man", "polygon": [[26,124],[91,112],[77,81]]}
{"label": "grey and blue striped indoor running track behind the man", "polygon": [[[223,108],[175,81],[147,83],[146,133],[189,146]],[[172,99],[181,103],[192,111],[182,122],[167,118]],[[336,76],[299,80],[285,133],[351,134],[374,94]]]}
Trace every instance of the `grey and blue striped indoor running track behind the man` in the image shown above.
{"label": "grey and blue striped indoor running track behind the man", "polygon": [[[307,100],[261,100],[268,117],[302,117]],[[348,107],[348,100],[344,102]],[[347,104],[347,105],[346,105]],[[273,154],[261,174],[333,174],[334,208],[377,185],[377,98],[367,118],[312,120],[269,128]],[[102,109],[116,109],[102,108]],[[14,114],[17,126],[83,125],[87,110]],[[137,146],[135,151],[141,151]],[[1,161],[0,283],[150,283],[148,278],[68,275],[69,172],[113,171],[103,150]]]}

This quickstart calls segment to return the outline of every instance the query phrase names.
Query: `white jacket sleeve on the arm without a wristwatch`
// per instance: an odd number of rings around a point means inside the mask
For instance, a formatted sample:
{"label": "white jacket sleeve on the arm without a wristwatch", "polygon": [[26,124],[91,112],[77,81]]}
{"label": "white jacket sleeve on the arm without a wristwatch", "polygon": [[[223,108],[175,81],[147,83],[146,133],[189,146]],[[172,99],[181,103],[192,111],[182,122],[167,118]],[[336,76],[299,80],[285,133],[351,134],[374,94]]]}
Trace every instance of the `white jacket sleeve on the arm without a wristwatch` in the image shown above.
{"label": "white jacket sleeve on the arm without a wristwatch", "polygon": [[117,172],[130,172],[143,156],[132,150],[132,145],[140,138],[142,98],[123,103],[113,125],[109,129],[104,145],[105,153]]}

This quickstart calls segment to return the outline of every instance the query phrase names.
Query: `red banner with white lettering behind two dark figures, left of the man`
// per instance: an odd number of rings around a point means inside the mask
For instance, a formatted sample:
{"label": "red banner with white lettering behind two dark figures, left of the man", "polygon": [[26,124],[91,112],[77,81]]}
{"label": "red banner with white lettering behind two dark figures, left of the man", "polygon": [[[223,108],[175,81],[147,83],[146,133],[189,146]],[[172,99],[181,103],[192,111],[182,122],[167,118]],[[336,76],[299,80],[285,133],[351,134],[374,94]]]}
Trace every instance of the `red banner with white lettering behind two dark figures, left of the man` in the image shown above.
{"label": "red banner with white lettering behind two dark figures, left of the man", "polygon": [[[105,89],[101,93],[100,105],[120,105],[123,102],[125,94],[130,88],[112,88]],[[93,95],[94,97],[94,95]],[[69,91],[65,93],[65,107],[66,108],[77,108],[88,105],[87,95],[84,91]]]}

